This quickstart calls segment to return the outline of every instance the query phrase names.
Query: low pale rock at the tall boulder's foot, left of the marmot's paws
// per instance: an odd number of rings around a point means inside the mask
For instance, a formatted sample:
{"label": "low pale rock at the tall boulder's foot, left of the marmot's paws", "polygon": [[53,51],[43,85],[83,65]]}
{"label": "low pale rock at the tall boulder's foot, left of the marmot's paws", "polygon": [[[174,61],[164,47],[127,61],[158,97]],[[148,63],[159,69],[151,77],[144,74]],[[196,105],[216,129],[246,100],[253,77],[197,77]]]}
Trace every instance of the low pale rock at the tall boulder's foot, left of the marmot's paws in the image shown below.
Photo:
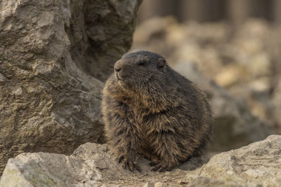
{"label": "low pale rock at the tall boulder's foot, left of the marmot's paws", "polygon": [[[152,173],[148,160],[138,162],[143,172]],[[0,186],[124,186],[144,183],[141,182],[143,176],[148,175],[124,170],[106,144],[86,143],[70,156],[22,153],[11,158],[1,176]],[[157,179],[159,177],[152,179],[154,186]]]}

